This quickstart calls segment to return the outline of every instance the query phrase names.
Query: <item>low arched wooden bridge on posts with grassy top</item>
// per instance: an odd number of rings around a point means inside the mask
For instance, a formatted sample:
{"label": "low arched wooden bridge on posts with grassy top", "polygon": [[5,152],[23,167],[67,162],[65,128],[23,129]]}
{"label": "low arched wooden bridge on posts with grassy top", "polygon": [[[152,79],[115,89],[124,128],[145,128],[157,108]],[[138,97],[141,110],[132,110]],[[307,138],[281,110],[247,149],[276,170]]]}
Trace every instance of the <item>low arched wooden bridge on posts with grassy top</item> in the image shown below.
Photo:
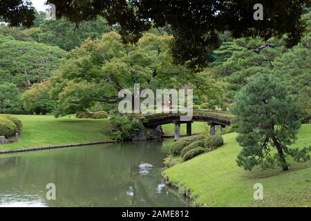
{"label": "low arched wooden bridge on posts with grassy top", "polygon": [[163,124],[175,124],[174,139],[178,140],[180,138],[180,124],[187,124],[187,136],[190,136],[192,134],[191,124],[193,122],[207,122],[210,126],[209,133],[215,135],[215,126],[220,125],[220,128],[223,129],[231,124],[232,119],[232,115],[229,113],[211,111],[194,111],[191,121],[187,122],[181,121],[180,116],[183,115],[178,113],[156,113],[145,115],[147,121],[144,122],[144,126],[147,128],[156,128]]}

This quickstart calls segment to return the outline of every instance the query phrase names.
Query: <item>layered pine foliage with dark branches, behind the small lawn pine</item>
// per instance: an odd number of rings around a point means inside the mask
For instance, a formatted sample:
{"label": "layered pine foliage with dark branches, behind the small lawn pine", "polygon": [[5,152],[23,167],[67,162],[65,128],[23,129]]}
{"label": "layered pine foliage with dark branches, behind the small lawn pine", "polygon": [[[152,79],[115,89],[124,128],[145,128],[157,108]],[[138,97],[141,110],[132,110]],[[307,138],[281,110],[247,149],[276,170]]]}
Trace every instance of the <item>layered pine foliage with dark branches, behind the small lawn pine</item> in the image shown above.
{"label": "layered pine foliage with dark branches, behind the small lawn pine", "polygon": [[232,57],[227,59],[221,66],[215,68],[216,77],[223,77],[227,93],[227,102],[234,102],[234,96],[246,84],[246,78],[258,72],[270,73],[274,65],[272,62],[277,56],[281,56],[285,47],[282,41],[269,39],[267,47],[256,52],[254,48],[265,46],[265,42],[258,38],[243,38],[234,41]]}

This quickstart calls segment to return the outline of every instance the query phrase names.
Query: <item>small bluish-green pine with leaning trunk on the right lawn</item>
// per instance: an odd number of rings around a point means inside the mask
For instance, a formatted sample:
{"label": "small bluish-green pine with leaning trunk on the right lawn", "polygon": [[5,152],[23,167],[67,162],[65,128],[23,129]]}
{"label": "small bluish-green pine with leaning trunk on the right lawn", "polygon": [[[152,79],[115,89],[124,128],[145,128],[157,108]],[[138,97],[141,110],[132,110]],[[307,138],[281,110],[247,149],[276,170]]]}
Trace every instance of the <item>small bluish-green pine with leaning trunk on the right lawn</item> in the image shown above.
{"label": "small bluish-green pine with leaning trunk on the right lawn", "polygon": [[264,167],[279,164],[287,171],[286,156],[296,161],[309,160],[307,148],[288,147],[296,140],[300,127],[300,108],[288,95],[287,88],[268,74],[258,73],[247,82],[232,108],[238,124],[237,140],[243,148],[238,155],[238,166],[251,170],[258,164]]}

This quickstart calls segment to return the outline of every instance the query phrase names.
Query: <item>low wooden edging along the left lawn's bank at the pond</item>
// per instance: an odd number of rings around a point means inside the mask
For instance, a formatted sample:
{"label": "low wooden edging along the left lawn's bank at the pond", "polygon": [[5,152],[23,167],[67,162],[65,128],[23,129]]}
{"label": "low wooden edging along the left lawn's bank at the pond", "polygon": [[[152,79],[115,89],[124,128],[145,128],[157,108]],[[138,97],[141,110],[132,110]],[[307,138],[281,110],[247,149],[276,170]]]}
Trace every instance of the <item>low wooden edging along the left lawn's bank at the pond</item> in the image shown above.
{"label": "low wooden edging along the left lawn's bank at the pond", "polygon": [[57,148],[69,148],[69,147],[77,147],[77,146],[91,146],[96,144],[112,144],[115,141],[104,141],[104,142],[93,142],[93,143],[84,143],[84,144],[65,144],[65,145],[55,145],[55,146],[39,146],[33,148],[21,148],[21,149],[12,149],[12,150],[4,150],[0,151],[0,155],[8,154],[8,153],[23,153],[23,152],[30,152],[30,151],[44,151],[44,150],[51,150]]}

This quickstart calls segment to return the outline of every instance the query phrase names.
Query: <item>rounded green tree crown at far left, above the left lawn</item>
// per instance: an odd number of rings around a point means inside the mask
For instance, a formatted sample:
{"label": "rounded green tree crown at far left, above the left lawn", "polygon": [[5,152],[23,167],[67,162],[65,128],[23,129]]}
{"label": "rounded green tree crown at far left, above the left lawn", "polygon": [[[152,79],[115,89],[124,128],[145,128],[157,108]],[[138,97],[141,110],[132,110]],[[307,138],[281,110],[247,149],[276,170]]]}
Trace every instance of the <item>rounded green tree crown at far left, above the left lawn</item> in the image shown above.
{"label": "rounded green tree crown at far left, above the left lawn", "polygon": [[50,77],[65,55],[58,47],[0,35],[0,82],[8,81],[27,89]]}

